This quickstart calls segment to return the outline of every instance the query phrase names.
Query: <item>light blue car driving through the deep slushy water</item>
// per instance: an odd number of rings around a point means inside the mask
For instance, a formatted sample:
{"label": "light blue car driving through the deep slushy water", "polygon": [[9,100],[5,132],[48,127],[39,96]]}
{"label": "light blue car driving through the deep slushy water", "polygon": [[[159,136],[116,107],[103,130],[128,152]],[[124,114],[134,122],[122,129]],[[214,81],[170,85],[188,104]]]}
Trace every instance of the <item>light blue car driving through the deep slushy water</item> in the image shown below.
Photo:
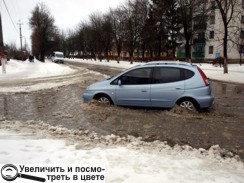
{"label": "light blue car driving through the deep slushy water", "polygon": [[90,85],[84,102],[122,106],[188,110],[211,107],[214,97],[208,78],[196,65],[186,62],[149,62]]}

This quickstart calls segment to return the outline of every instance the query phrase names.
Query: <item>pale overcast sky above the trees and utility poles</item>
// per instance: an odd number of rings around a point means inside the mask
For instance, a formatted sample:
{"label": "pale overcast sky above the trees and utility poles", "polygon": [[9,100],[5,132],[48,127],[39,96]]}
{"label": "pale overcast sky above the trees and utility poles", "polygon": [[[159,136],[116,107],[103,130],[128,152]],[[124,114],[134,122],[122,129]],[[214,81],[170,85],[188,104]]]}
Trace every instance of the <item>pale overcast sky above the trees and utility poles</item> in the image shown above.
{"label": "pale overcast sky above the trees and utility poles", "polygon": [[39,2],[47,5],[57,27],[68,30],[86,20],[90,14],[97,11],[105,13],[109,7],[115,8],[125,0],[0,0],[4,44],[14,43],[20,47],[18,23],[21,21],[23,46],[25,40],[30,45],[31,31],[28,22],[31,11]]}

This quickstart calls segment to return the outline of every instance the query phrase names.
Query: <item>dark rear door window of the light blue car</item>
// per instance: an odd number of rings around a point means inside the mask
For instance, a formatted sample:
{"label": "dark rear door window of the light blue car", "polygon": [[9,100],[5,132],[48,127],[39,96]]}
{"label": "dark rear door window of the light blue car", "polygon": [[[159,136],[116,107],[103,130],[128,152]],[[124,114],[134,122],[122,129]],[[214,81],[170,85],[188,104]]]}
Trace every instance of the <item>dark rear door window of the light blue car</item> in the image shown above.
{"label": "dark rear door window of the light blue car", "polygon": [[153,83],[172,83],[183,80],[180,68],[156,67],[153,72]]}

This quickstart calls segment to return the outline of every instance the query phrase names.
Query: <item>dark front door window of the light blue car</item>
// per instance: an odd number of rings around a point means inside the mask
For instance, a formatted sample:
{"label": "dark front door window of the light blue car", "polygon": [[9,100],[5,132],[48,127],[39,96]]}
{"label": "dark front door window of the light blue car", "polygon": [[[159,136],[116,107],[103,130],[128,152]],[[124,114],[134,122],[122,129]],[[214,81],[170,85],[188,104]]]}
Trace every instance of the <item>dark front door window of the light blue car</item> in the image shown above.
{"label": "dark front door window of the light blue car", "polygon": [[151,68],[140,68],[120,76],[122,85],[143,85],[151,83]]}

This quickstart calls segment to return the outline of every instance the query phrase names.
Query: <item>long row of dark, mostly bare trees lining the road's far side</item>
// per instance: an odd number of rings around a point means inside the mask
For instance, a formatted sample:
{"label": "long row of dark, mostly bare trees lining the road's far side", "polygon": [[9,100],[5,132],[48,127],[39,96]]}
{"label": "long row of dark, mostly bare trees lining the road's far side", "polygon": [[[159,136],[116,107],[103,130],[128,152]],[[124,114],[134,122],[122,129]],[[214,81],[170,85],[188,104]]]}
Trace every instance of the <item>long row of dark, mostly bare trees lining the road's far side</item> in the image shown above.
{"label": "long row of dark, mostly bare trees lining the road's far side", "polygon": [[[212,3],[213,2],[213,3]],[[194,38],[211,18],[212,10],[221,12],[224,37],[224,73],[228,73],[228,41],[238,44],[231,20],[239,16],[238,0],[128,0],[117,8],[102,14],[93,12],[88,20],[69,30],[60,30],[44,3],[32,11],[32,53],[41,60],[53,51],[62,51],[66,57],[129,61],[185,60],[192,62]],[[230,31],[231,30],[231,31]],[[206,40],[207,36],[203,35]],[[224,41],[223,41],[224,40]],[[192,43],[193,41],[193,43]],[[184,48],[184,56],[176,54]],[[27,51],[26,51],[27,52]],[[13,54],[12,54],[13,56]],[[241,59],[240,59],[241,60]],[[198,60],[199,61],[199,60]]]}

